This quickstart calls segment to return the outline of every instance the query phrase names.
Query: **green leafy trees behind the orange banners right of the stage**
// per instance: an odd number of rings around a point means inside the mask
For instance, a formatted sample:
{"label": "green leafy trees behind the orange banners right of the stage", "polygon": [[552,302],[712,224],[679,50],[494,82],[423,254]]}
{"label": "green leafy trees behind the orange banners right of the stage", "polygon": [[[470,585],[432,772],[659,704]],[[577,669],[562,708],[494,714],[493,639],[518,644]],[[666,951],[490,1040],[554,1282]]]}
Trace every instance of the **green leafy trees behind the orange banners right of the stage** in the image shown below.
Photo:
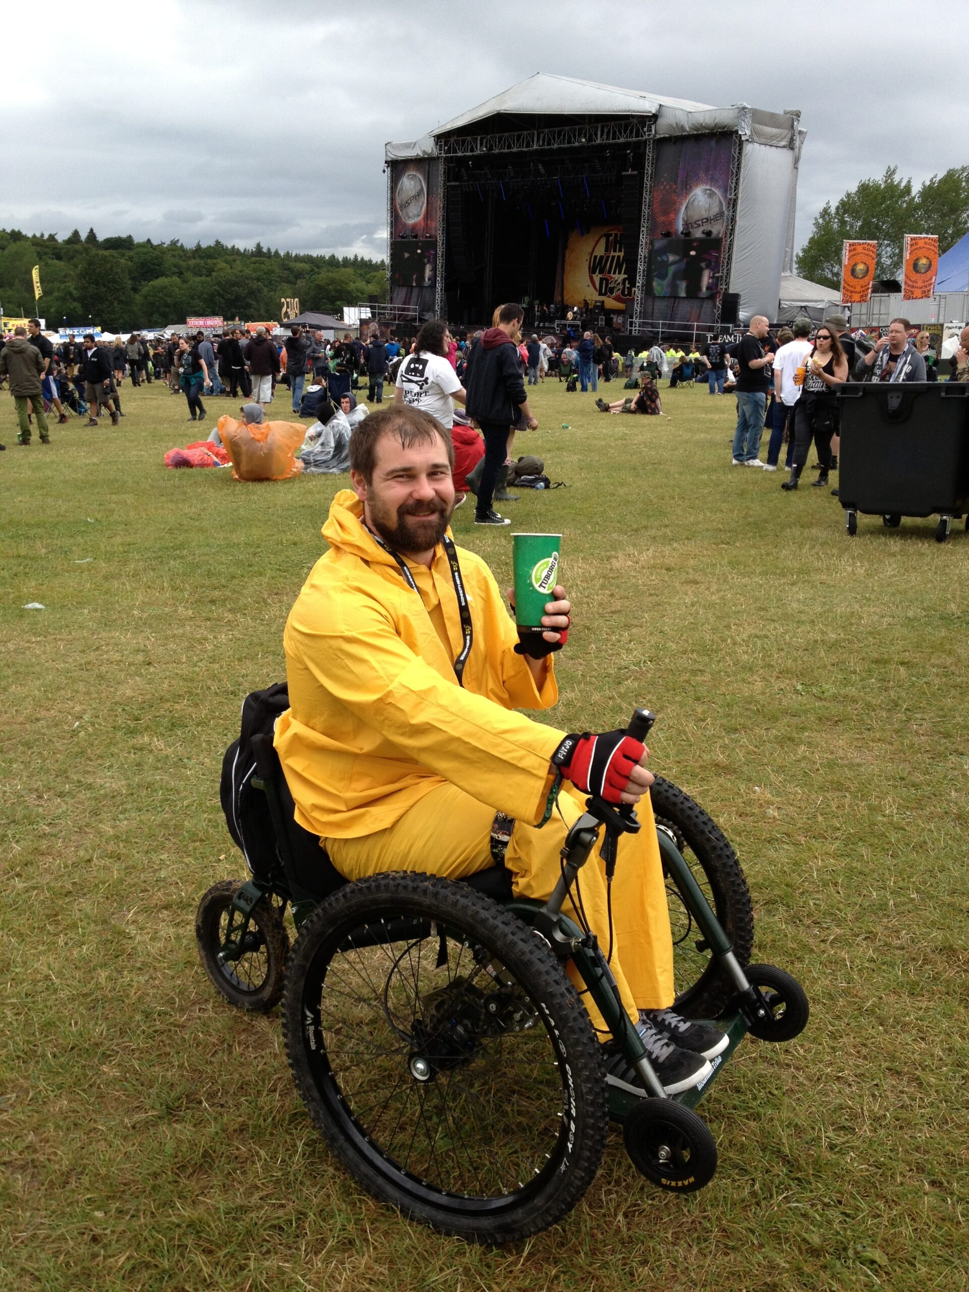
{"label": "green leafy trees behind the orange banners right of the stage", "polygon": [[879,244],[879,278],[898,278],[906,234],[937,234],[948,251],[969,230],[969,167],[933,176],[913,191],[889,167],[880,180],[862,180],[833,207],[826,202],[797,257],[797,273],[817,283],[841,283],[841,243],[864,238]]}

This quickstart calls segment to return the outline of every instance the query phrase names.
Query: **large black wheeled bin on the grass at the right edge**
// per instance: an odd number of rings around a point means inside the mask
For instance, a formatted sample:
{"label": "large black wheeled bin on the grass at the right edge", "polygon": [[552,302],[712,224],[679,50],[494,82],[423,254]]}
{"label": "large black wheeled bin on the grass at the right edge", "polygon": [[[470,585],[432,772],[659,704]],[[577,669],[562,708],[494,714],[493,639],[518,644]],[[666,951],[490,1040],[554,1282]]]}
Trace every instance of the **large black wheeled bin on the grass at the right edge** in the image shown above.
{"label": "large black wheeled bin on the grass at the right edge", "polygon": [[903,516],[938,516],[935,537],[944,543],[969,510],[969,385],[849,384],[837,401],[848,532],[857,532],[859,512],[881,516],[889,528]]}

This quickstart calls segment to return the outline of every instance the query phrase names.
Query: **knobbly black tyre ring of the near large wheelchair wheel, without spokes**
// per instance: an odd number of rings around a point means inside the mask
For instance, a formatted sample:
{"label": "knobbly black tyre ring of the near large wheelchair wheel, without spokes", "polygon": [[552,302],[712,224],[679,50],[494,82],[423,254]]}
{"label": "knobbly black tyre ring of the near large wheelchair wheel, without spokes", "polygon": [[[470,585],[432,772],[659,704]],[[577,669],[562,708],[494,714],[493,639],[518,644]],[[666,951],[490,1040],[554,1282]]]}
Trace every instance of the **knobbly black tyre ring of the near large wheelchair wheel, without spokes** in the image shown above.
{"label": "knobbly black tyre ring of the near large wheelchair wheel, without spokes", "polygon": [[[323,1035],[314,1026],[313,1009],[305,999],[307,975],[328,939],[350,928],[353,920],[373,917],[380,908],[421,919],[450,919],[457,928],[473,929],[475,938],[540,1005],[565,1079],[562,1114],[567,1118],[563,1132],[567,1141],[558,1169],[549,1171],[540,1187],[518,1202],[516,1195],[508,1195],[508,1204],[487,1213],[452,1208],[446,1195],[428,1196],[428,1190],[421,1190],[413,1177],[404,1177],[393,1164],[380,1169],[373,1156],[364,1154],[359,1129],[348,1129],[351,1119],[341,1123],[331,1112],[331,1094],[317,1084],[314,1065],[318,1070]],[[394,872],[350,884],[320,903],[300,929],[289,959],[283,1035],[296,1088],[335,1155],[370,1194],[412,1220],[475,1242],[516,1242],[562,1220],[596,1177],[609,1115],[599,1045],[589,1017],[545,943],[499,903],[461,884]]]}

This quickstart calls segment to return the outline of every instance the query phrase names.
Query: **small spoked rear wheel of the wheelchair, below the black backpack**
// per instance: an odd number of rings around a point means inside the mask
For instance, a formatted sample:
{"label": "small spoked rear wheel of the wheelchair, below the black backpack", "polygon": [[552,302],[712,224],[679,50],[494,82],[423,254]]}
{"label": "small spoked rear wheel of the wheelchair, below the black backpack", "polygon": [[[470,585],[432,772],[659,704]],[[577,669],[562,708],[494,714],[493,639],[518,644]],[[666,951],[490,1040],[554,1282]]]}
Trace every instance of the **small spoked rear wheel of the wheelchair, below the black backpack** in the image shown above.
{"label": "small spoked rear wheel of the wheelchair, below the black backpack", "polygon": [[221,880],[203,895],[195,913],[195,941],[216,991],[236,1009],[265,1013],[278,1004],[286,988],[289,937],[280,912],[264,897],[249,915],[239,959],[220,960],[233,898],[242,884],[243,880]]}

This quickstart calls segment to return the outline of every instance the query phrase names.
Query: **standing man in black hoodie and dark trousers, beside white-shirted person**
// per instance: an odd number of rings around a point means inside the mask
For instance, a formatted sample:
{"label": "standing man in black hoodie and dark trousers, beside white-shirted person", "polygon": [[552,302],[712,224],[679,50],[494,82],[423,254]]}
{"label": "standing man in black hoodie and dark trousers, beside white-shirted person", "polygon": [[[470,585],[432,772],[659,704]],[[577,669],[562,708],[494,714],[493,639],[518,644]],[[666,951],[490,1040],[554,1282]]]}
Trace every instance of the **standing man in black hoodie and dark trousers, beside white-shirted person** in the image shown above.
{"label": "standing man in black hoodie and dark trousers, beside white-shirted person", "polygon": [[522,381],[518,342],[522,339],[521,305],[503,305],[497,327],[483,333],[468,355],[464,377],[468,399],[465,411],[481,426],[484,437],[484,465],[478,486],[475,525],[510,525],[492,506],[495,488],[503,491],[510,468],[508,439],[512,426],[525,419],[530,430],[537,428],[531,415]]}

